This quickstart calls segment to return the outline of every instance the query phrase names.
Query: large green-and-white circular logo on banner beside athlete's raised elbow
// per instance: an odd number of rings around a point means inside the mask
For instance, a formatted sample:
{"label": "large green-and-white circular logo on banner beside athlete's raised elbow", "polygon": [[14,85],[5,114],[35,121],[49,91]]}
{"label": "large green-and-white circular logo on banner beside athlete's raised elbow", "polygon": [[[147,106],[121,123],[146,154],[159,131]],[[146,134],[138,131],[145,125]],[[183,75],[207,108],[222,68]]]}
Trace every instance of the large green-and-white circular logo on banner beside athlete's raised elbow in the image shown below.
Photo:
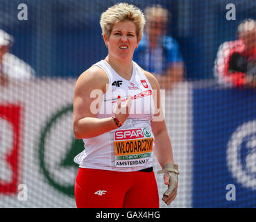
{"label": "large green-and-white circular logo on banner beside athlete's raised elbow", "polygon": [[74,197],[74,181],[78,164],[74,157],[83,151],[83,140],[73,133],[73,105],[67,105],[46,120],[39,147],[40,169],[46,182],[58,191]]}

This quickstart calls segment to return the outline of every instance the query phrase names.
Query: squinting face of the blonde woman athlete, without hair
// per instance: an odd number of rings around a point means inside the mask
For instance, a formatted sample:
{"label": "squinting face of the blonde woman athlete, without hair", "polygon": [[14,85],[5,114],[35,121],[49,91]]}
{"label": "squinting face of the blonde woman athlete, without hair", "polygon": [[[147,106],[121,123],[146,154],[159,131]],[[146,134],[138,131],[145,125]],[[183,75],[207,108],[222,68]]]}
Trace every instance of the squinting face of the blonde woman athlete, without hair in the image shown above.
{"label": "squinting face of the blonde woman athlete, without hair", "polygon": [[118,22],[114,24],[110,36],[103,37],[111,56],[118,59],[133,59],[133,53],[139,44],[133,22]]}

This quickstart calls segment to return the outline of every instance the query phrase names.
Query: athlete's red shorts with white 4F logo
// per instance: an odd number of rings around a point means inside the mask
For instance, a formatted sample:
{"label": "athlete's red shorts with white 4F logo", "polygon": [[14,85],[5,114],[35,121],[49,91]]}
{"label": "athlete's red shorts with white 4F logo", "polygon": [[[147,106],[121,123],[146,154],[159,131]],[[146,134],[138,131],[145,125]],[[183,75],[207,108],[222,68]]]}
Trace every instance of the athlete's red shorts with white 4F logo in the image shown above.
{"label": "athlete's red shorts with white 4F logo", "polygon": [[155,174],[79,168],[75,185],[78,208],[159,208]]}

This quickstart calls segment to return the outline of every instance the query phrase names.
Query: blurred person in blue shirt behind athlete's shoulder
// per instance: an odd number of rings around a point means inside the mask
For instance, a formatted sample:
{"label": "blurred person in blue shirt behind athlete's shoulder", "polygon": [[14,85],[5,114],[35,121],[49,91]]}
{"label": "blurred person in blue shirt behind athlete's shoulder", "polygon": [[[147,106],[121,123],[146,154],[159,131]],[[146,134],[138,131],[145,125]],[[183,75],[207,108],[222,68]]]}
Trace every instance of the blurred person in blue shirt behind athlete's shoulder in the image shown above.
{"label": "blurred person in blue shirt behind athlete's shoulder", "polygon": [[133,60],[155,74],[160,86],[169,89],[183,79],[183,61],[176,40],[167,36],[169,12],[160,5],[145,8],[144,36]]}

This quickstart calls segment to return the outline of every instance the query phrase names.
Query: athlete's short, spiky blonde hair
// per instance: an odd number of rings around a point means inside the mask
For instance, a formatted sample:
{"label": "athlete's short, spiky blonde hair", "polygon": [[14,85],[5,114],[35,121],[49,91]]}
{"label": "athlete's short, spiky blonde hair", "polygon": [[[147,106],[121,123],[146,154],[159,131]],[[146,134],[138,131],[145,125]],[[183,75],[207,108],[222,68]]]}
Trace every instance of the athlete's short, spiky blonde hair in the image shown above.
{"label": "athlete's short, spiky blonde hair", "polygon": [[110,37],[114,24],[130,21],[136,26],[137,39],[142,38],[146,19],[142,10],[128,3],[117,3],[101,14],[102,34]]}

